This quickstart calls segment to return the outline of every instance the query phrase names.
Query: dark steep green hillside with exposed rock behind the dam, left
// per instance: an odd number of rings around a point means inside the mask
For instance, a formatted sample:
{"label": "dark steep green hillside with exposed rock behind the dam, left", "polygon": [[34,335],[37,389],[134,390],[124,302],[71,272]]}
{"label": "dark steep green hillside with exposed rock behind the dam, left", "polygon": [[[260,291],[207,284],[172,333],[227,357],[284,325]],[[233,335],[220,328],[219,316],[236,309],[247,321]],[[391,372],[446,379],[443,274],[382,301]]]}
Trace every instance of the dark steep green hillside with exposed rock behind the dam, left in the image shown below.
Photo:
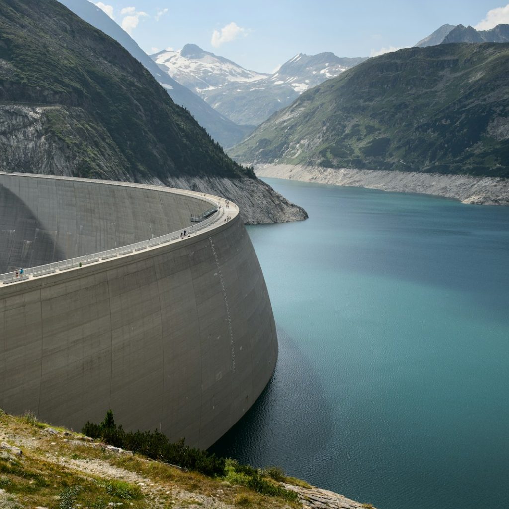
{"label": "dark steep green hillside with exposed rock behind the dam, left", "polygon": [[54,0],[0,0],[0,106],[3,169],[252,177],[120,44]]}

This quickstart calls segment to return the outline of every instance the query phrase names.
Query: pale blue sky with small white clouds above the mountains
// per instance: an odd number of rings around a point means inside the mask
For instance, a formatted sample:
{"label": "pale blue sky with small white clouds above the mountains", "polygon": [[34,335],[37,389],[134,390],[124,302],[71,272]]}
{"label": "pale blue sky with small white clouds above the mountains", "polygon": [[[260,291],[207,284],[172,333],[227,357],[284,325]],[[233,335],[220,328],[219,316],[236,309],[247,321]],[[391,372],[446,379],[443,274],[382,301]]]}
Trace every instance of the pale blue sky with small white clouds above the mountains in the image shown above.
{"label": "pale blue sky with small white clouds above the mountains", "polygon": [[147,53],[194,43],[271,72],[297,53],[368,56],[413,46],[445,23],[486,30],[509,23],[507,0],[103,0]]}

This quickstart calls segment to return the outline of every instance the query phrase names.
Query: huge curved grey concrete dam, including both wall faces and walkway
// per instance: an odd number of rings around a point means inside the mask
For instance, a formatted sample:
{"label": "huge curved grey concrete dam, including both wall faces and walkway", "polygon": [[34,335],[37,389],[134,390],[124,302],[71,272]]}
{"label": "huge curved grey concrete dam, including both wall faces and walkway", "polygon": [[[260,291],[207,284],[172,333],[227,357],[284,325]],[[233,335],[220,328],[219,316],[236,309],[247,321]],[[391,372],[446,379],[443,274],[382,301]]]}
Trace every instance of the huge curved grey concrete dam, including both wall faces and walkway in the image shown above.
{"label": "huge curved grey concrete dam, including both wall faces and walkway", "polygon": [[125,429],[201,448],[227,432],[278,348],[258,258],[225,205],[0,173],[0,408],[77,431],[111,408]]}

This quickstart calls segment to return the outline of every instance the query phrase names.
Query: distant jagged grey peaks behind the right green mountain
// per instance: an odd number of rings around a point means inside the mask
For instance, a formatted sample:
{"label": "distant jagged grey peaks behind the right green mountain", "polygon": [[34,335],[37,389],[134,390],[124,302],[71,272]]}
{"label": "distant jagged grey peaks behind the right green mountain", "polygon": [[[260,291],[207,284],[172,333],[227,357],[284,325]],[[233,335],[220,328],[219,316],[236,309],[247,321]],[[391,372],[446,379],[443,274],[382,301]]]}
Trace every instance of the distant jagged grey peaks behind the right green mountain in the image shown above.
{"label": "distant jagged grey peaks behind the right green mountain", "polygon": [[442,25],[415,46],[424,48],[455,42],[509,42],[509,25],[499,24],[491,30],[475,30],[472,26],[463,25]]}

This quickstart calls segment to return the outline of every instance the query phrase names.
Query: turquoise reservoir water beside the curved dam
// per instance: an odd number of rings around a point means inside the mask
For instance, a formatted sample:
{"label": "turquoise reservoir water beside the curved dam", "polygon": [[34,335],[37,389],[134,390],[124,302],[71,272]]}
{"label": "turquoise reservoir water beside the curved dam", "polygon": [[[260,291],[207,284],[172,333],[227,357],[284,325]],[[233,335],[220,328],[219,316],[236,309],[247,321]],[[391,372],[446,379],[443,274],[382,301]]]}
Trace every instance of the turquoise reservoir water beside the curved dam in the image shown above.
{"label": "turquoise reservoir water beside the curved dam", "polygon": [[279,361],[214,450],[381,509],[509,506],[509,208],[267,181]]}

